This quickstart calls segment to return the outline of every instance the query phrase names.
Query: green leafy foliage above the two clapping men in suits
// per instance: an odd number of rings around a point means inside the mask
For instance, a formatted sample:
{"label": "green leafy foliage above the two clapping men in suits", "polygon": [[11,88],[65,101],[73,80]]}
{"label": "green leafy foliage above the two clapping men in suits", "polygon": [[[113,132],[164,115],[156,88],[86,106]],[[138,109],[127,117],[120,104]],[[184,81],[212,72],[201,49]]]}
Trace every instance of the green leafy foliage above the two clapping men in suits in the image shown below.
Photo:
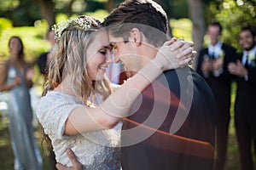
{"label": "green leafy foliage above the two clapping men in suits", "polygon": [[223,41],[241,50],[238,44],[238,33],[241,26],[256,26],[255,2],[224,0],[221,3],[216,3],[212,1],[209,9],[213,15],[212,20],[218,20],[224,27]]}

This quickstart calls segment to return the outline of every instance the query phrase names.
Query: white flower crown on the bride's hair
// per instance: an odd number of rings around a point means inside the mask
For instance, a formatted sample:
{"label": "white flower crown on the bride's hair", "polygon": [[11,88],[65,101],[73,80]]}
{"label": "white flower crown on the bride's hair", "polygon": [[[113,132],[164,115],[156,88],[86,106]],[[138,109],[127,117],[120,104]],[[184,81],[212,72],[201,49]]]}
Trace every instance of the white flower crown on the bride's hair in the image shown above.
{"label": "white flower crown on the bride's hair", "polygon": [[60,40],[63,31],[73,26],[79,26],[84,31],[90,30],[92,24],[91,20],[84,17],[76,17],[66,21],[59,22],[57,25],[52,26],[52,31],[55,31],[55,40]]}

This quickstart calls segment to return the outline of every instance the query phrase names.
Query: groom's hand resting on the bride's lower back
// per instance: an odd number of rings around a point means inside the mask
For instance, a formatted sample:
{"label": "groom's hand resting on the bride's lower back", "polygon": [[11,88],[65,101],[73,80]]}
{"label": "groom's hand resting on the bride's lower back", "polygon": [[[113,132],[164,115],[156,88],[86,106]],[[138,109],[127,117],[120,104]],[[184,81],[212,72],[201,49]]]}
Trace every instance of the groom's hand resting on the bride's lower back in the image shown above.
{"label": "groom's hand resting on the bride's lower back", "polygon": [[83,170],[83,165],[77,160],[77,156],[73,153],[73,150],[66,150],[67,156],[73,164],[73,167],[66,167],[61,165],[60,163],[56,164],[56,168],[58,170]]}

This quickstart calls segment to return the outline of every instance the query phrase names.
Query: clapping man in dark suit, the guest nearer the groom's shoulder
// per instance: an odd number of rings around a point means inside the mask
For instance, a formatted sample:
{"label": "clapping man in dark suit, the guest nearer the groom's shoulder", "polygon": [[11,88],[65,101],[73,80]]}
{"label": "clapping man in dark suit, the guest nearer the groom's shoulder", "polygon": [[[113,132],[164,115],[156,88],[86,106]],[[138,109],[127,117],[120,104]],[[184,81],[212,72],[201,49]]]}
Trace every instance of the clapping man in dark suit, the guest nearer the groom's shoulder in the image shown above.
{"label": "clapping man in dark suit, the guest nearer the groom's shoulder", "polygon": [[212,22],[207,27],[210,44],[201,49],[196,71],[205,78],[212,89],[217,104],[217,151],[216,169],[224,169],[230,124],[231,79],[227,65],[235,60],[236,49],[221,42],[222,26]]}

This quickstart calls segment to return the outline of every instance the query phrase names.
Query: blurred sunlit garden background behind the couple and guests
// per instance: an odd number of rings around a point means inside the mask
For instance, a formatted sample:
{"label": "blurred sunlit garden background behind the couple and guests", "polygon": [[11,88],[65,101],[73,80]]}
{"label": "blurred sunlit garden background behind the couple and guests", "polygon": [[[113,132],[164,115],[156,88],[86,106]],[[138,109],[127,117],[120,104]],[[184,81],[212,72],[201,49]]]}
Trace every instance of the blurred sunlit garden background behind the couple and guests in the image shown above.
{"label": "blurred sunlit garden background behind the couple and guests", "polygon": [[[11,36],[21,37],[26,60],[35,63],[39,54],[50,48],[45,35],[50,26],[56,22],[79,14],[89,14],[99,20],[122,1],[120,0],[1,0],[0,1],[0,63],[9,58],[8,41]],[[166,10],[170,21],[170,36],[183,37],[195,42],[199,50],[207,44],[205,31],[207,24],[218,20],[223,30],[223,42],[229,43],[238,50],[238,32],[241,26],[256,27],[256,0],[156,0]],[[196,62],[195,62],[196,65]],[[32,88],[32,105],[41,94],[44,77],[39,74],[35,65]],[[234,99],[236,84],[232,85],[232,105],[230,138],[226,170],[240,169],[240,161],[234,129]],[[9,131],[8,111],[5,110],[5,93],[0,93],[0,169],[13,169]],[[41,145],[40,130],[36,117],[33,125],[38,144]],[[45,144],[41,147],[44,156],[44,169],[49,169],[49,155]],[[254,160],[255,162],[255,160]]]}

